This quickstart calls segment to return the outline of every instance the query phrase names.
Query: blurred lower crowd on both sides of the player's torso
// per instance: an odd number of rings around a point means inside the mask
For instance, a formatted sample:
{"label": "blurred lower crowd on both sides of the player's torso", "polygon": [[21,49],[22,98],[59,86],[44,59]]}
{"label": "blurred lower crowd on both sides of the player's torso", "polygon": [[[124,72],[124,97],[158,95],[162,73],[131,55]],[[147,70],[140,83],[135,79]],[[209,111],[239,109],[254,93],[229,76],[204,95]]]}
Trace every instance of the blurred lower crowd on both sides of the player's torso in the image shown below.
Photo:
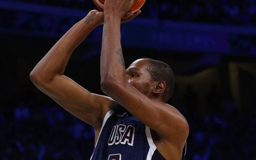
{"label": "blurred lower crowd on both sides of the player's torso", "polygon": [[[193,87],[174,94],[170,103],[187,118],[187,159],[256,159],[256,119],[237,110],[231,98],[214,90],[205,95],[208,108],[199,114]],[[1,104],[0,159],[90,159],[91,126],[70,115],[37,90],[26,102]]]}

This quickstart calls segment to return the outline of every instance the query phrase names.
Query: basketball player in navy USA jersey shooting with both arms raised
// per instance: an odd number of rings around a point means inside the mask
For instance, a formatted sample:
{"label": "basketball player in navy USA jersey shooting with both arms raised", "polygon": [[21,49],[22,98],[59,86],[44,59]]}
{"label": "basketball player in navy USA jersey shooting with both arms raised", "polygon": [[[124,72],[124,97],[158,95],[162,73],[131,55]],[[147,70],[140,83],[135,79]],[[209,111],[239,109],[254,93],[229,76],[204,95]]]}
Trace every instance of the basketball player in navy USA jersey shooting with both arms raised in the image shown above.
{"label": "basketball player in navy USA jersey shooting with both arms raised", "polygon": [[[106,0],[104,12],[91,11],[76,23],[31,71],[31,81],[69,113],[92,125],[95,148],[91,159],[182,159],[189,127],[165,102],[174,78],[164,62],[139,59],[125,70],[121,22],[135,0]],[[67,62],[83,39],[104,23],[100,60],[101,89],[93,94],[64,76]]]}

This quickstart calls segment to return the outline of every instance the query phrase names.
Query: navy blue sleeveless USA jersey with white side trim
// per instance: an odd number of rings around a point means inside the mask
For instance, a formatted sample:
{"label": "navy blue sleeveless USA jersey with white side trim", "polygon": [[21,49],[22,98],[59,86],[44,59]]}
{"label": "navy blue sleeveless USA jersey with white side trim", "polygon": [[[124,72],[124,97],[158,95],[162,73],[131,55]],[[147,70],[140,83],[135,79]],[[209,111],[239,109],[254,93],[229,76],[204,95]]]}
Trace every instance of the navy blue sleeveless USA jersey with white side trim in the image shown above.
{"label": "navy blue sleeveless USA jersey with white side trim", "polygon": [[91,160],[162,160],[150,129],[136,117],[108,111]]}

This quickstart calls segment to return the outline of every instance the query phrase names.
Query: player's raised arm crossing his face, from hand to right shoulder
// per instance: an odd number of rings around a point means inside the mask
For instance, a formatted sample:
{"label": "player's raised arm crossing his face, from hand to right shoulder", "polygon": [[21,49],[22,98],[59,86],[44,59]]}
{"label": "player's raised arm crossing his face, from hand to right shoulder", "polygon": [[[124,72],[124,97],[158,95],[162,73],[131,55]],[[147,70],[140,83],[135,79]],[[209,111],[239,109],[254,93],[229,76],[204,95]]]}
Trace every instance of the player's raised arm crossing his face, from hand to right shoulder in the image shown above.
{"label": "player's raised arm crossing his face, from hand to right shoulder", "polygon": [[[157,132],[157,146],[166,159],[180,159],[188,136],[188,124],[170,105],[150,99],[128,81],[121,46],[120,19],[135,0],[106,0],[101,50],[101,89]],[[139,11],[140,12],[140,11]],[[128,73],[130,71],[128,70]]]}

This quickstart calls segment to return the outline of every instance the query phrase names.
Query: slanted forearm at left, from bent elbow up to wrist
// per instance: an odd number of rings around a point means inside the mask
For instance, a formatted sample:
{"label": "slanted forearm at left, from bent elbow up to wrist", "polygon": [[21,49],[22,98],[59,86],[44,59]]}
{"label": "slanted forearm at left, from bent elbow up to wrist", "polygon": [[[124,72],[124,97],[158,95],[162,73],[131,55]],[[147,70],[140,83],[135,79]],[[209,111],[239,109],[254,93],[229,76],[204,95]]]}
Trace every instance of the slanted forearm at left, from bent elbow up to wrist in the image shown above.
{"label": "slanted forearm at left, from bent elbow up to wrist", "polygon": [[31,79],[50,81],[55,75],[63,75],[68,60],[76,47],[101,23],[93,13],[74,25],[31,71]]}

